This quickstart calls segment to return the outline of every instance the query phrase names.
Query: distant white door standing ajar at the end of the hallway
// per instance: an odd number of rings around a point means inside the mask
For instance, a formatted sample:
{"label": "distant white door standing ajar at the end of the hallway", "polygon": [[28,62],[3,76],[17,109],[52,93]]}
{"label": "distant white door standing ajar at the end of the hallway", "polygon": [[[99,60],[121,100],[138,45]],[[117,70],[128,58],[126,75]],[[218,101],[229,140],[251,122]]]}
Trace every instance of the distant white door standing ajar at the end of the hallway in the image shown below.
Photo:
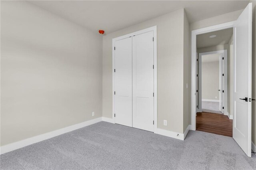
{"label": "distant white door standing ajar at the end of the hallway", "polygon": [[220,84],[220,111],[221,113],[224,113],[224,59],[223,59],[223,53],[220,54],[220,59],[219,59],[219,84]]}

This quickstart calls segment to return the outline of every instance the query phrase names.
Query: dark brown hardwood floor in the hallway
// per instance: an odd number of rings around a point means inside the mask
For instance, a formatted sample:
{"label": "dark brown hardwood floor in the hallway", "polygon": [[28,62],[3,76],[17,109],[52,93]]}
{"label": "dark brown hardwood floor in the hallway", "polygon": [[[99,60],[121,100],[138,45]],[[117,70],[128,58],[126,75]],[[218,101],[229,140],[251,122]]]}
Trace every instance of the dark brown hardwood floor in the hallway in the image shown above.
{"label": "dark brown hardwood floor in the hallway", "polygon": [[233,120],[216,113],[196,113],[196,130],[232,137]]}

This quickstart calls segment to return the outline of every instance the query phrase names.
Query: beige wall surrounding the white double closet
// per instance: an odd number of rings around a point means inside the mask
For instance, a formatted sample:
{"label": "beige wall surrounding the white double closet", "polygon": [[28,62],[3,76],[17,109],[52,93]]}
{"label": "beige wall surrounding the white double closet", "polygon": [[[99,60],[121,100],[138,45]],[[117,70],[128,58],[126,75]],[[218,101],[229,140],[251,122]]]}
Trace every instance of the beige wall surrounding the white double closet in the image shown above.
{"label": "beige wall surrounding the white double closet", "polygon": [[102,114],[112,118],[112,38],[151,26],[157,26],[158,128],[183,133],[183,9],[103,37]]}

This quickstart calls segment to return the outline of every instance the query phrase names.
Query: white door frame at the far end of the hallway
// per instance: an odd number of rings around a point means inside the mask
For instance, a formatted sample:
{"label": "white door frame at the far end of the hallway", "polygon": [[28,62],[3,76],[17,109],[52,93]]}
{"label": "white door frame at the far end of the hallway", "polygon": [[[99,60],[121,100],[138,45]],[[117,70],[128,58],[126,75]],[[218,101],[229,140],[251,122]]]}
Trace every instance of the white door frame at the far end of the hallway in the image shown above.
{"label": "white door frame at the far end of the hallway", "polygon": [[[224,115],[228,116],[228,50],[227,49],[223,49],[223,50],[218,50],[218,51],[209,51],[209,52],[205,52],[205,53],[199,53],[198,56],[198,76],[199,76],[199,83],[198,83],[198,98],[199,98],[199,107],[197,112],[202,112],[202,55],[209,55],[209,54],[223,54],[224,57],[224,100],[223,100],[223,106],[224,106]],[[220,74],[219,74],[220,77]],[[220,101],[219,101],[220,102]]]}

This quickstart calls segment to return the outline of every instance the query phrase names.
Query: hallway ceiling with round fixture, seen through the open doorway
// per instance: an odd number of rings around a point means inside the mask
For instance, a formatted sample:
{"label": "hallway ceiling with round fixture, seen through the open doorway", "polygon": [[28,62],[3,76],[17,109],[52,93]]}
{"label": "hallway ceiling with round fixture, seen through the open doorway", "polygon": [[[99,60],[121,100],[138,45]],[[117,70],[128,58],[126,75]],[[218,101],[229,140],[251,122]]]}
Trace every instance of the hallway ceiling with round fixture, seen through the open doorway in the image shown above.
{"label": "hallway ceiling with round fixture, seen through the open doorway", "polygon": [[[216,35],[214,38],[210,38],[210,36]],[[200,34],[196,36],[196,47],[211,47],[215,45],[227,44],[230,38],[233,35],[233,28],[228,28],[225,30],[209,32],[206,34]]]}

